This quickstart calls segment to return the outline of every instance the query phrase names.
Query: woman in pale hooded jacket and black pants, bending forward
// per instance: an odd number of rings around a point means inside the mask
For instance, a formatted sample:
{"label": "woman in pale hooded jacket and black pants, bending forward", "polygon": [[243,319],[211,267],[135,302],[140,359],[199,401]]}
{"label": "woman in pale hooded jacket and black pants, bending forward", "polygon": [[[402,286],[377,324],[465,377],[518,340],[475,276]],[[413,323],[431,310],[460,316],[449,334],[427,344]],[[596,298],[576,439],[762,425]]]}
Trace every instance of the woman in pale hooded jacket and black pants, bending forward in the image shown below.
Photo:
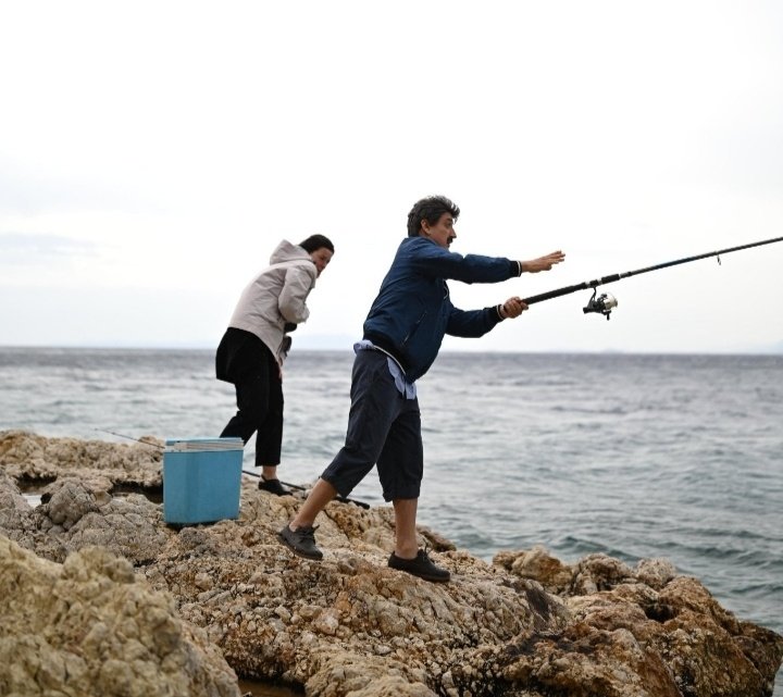
{"label": "woman in pale hooded jacket and black pants, bending forward", "polygon": [[334,245],[312,235],[299,245],[283,240],[270,265],[243,290],[215,356],[217,379],[233,383],[238,411],[221,437],[256,436],[259,488],[277,496],[290,494],[277,478],[283,443],[282,368],[290,337],[310,315],[306,300],[328,265]]}

